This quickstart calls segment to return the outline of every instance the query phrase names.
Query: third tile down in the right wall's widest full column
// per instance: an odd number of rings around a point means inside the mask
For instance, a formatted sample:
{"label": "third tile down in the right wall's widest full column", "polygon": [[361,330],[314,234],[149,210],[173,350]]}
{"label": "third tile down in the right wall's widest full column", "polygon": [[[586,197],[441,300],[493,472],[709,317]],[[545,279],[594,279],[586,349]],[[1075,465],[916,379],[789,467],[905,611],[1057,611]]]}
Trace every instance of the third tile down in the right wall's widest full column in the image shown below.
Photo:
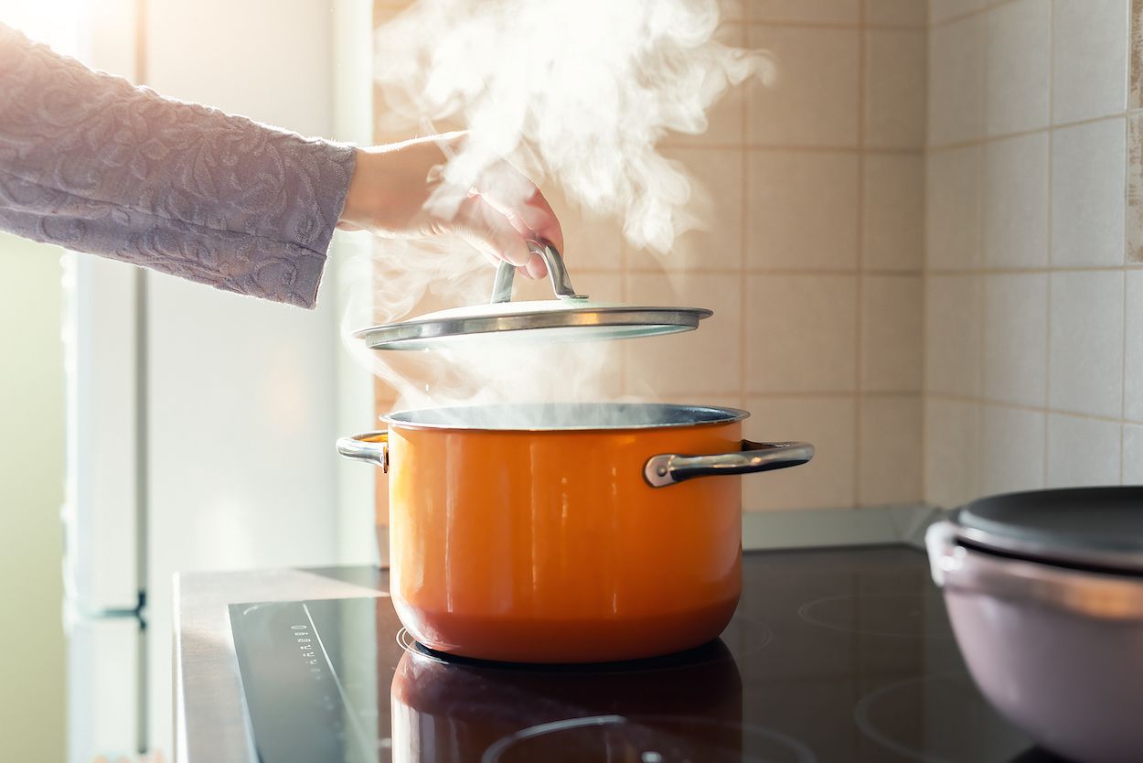
{"label": "third tile down in the right wall's widest full column", "polygon": [[1124,273],[1052,273],[1048,406],[1122,413]]}

